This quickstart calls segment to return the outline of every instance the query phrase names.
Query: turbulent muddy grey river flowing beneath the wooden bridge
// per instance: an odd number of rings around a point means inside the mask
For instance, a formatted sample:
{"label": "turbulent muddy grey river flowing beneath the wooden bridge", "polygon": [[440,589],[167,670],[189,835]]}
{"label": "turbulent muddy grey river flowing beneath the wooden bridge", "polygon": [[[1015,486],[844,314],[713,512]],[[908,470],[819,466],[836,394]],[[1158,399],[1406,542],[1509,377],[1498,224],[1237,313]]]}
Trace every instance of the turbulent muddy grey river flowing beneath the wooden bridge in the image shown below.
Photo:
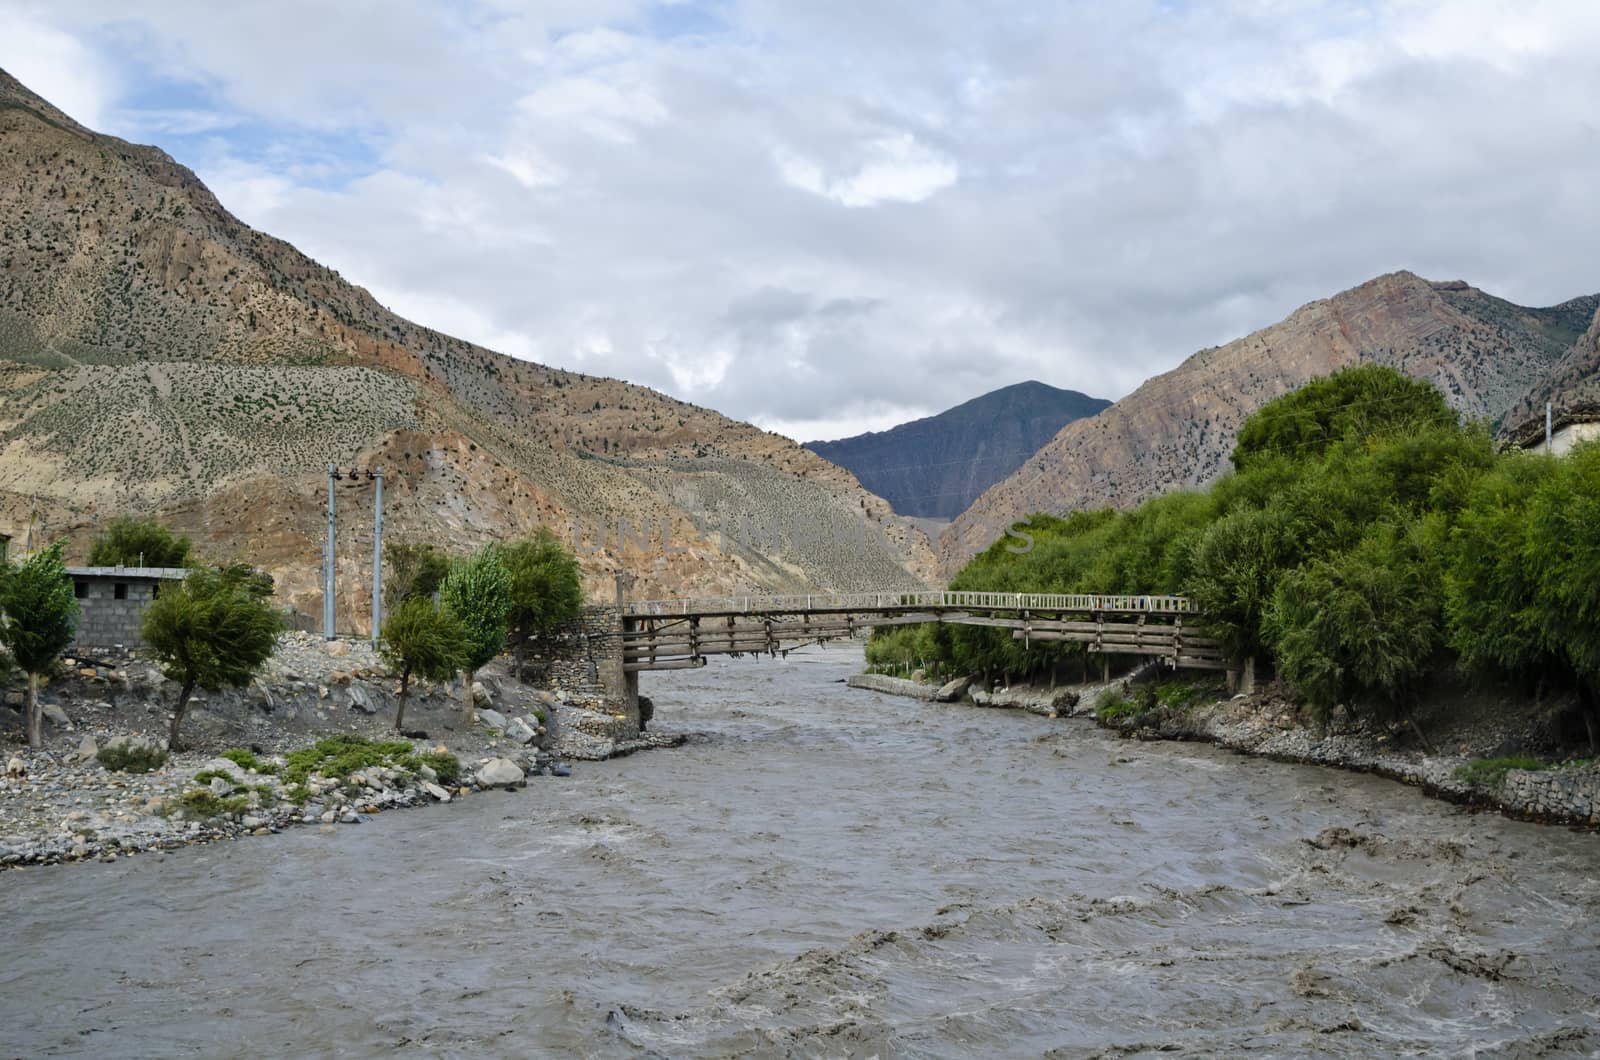
{"label": "turbulent muddy grey river flowing beneath the wooden bridge", "polygon": [[6,873],[0,1052],[1600,1049],[1600,837],[859,665],[645,674],[702,737],[522,793]]}

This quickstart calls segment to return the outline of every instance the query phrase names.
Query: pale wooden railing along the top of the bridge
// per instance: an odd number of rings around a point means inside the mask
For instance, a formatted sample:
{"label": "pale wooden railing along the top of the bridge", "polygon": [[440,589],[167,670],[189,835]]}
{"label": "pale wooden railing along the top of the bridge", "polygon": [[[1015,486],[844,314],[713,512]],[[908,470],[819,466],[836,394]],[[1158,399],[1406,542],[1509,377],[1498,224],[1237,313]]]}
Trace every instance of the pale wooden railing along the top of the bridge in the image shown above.
{"label": "pale wooden railing along the top of the bridge", "polygon": [[1182,596],[1096,592],[963,592],[914,589],[891,592],[810,592],[794,596],[714,596],[677,600],[626,600],[629,616],[672,615],[794,615],[802,612],[1112,612],[1123,615],[1194,615]]}

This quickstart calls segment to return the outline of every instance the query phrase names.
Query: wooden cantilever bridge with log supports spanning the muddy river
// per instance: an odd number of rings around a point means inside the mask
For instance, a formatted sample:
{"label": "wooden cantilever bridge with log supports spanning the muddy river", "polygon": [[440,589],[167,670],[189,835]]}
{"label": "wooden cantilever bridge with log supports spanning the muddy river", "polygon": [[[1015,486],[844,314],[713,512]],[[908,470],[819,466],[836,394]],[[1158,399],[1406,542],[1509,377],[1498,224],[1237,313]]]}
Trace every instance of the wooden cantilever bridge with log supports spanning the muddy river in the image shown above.
{"label": "wooden cantilever bridge with log supports spanning the muddy river", "polygon": [[622,669],[690,669],[707,655],[778,655],[877,626],[950,623],[1010,629],[1016,640],[1075,642],[1106,655],[1226,669],[1221,645],[1181,596],[1054,592],[843,592],[621,600]]}

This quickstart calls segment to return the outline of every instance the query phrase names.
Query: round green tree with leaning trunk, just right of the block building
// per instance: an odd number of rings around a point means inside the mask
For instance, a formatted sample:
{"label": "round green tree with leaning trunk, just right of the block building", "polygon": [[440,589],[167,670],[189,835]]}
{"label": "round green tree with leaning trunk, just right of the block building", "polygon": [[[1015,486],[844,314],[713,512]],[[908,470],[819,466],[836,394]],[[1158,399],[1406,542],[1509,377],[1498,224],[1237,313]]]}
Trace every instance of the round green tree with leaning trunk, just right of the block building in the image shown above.
{"label": "round green tree with leaning trunk, just right of the block building", "polygon": [[272,656],[283,616],[267,604],[270,592],[272,580],[248,567],[197,567],[146,608],[144,642],[179,684],[166,738],[173,751],[181,748],[178,732],[195,689],[242,689]]}

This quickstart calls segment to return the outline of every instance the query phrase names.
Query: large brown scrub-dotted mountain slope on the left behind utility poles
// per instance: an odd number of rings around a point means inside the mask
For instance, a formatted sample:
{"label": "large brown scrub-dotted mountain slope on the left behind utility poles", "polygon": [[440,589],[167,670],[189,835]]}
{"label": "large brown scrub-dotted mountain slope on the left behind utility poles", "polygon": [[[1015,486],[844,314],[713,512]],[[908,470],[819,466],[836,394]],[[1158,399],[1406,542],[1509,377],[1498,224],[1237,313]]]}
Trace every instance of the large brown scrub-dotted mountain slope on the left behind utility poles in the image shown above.
{"label": "large brown scrub-dotted mountain slope on the left behind utility poles", "polygon": [[[886,588],[933,568],[922,532],[794,442],[405,320],[165,152],[0,70],[0,530],[82,546],[107,514],[155,511],[310,610],[328,461],[386,469],[390,538],[576,527],[605,594],[618,565],[635,594]],[[341,512],[341,615],[358,626],[365,487]]]}

